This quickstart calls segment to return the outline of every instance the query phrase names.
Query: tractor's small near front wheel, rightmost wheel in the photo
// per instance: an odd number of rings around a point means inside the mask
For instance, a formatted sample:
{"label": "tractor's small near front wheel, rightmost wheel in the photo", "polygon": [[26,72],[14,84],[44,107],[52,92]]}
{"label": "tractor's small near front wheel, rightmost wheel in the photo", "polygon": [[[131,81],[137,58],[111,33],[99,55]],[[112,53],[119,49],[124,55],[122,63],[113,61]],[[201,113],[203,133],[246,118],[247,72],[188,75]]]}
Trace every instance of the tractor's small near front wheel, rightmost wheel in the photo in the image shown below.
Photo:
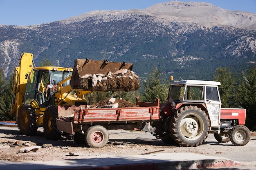
{"label": "tractor's small near front wheel, rightmost wheel in the photo", "polygon": [[230,132],[230,140],[235,146],[245,146],[250,139],[251,132],[244,125],[236,125]]}

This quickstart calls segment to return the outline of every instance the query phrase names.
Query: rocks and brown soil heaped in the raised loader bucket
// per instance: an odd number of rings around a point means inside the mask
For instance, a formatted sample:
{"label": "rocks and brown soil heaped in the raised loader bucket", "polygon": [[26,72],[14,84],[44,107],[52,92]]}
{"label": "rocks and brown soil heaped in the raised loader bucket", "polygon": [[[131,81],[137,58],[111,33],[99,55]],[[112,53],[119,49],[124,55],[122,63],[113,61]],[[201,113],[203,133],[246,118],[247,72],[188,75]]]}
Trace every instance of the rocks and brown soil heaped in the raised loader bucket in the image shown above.
{"label": "rocks and brown soil heaped in the raised loader bucket", "polygon": [[109,71],[106,75],[86,74],[80,77],[79,88],[88,91],[136,91],[140,88],[139,77],[128,69],[121,69],[115,73]]}

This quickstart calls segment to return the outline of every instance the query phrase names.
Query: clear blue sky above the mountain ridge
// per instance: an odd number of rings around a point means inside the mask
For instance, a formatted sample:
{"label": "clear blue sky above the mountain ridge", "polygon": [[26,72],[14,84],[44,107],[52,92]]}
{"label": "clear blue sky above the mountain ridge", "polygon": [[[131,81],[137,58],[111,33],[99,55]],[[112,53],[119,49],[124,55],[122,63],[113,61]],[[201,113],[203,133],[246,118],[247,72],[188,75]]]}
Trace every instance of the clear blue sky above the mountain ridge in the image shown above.
{"label": "clear blue sky above the mountain ridge", "polygon": [[[256,13],[256,0],[178,0],[208,2],[231,11]],[[168,0],[0,0],[1,25],[33,25],[94,10],[146,9]]]}

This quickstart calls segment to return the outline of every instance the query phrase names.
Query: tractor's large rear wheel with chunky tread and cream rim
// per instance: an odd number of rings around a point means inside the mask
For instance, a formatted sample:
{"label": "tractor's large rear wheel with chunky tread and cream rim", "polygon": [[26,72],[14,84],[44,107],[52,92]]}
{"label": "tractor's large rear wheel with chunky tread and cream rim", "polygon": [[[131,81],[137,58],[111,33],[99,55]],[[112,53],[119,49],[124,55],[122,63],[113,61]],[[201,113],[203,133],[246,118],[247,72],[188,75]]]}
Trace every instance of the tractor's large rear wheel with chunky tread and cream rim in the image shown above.
{"label": "tractor's large rear wheel with chunky tread and cream rim", "polygon": [[172,137],[181,146],[198,146],[208,137],[210,121],[206,113],[196,106],[185,106],[171,122]]}

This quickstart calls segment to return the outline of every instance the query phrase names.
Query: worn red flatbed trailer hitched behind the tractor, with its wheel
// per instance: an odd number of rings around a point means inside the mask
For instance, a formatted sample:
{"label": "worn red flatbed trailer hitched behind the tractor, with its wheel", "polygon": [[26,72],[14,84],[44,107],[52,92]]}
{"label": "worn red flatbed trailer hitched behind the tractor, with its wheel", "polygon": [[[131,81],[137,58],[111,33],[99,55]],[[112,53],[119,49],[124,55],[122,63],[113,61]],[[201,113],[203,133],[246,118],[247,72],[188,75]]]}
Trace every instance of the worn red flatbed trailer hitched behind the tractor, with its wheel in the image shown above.
{"label": "worn red flatbed trailer hitched behind the tractor, with its wheel", "polygon": [[86,108],[83,106],[58,106],[56,126],[59,131],[74,134],[79,144],[101,148],[108,142],[108,130],[143,129],[150,122],[159,120],[159,99],[155,103],[139,102],[138,107]]}

